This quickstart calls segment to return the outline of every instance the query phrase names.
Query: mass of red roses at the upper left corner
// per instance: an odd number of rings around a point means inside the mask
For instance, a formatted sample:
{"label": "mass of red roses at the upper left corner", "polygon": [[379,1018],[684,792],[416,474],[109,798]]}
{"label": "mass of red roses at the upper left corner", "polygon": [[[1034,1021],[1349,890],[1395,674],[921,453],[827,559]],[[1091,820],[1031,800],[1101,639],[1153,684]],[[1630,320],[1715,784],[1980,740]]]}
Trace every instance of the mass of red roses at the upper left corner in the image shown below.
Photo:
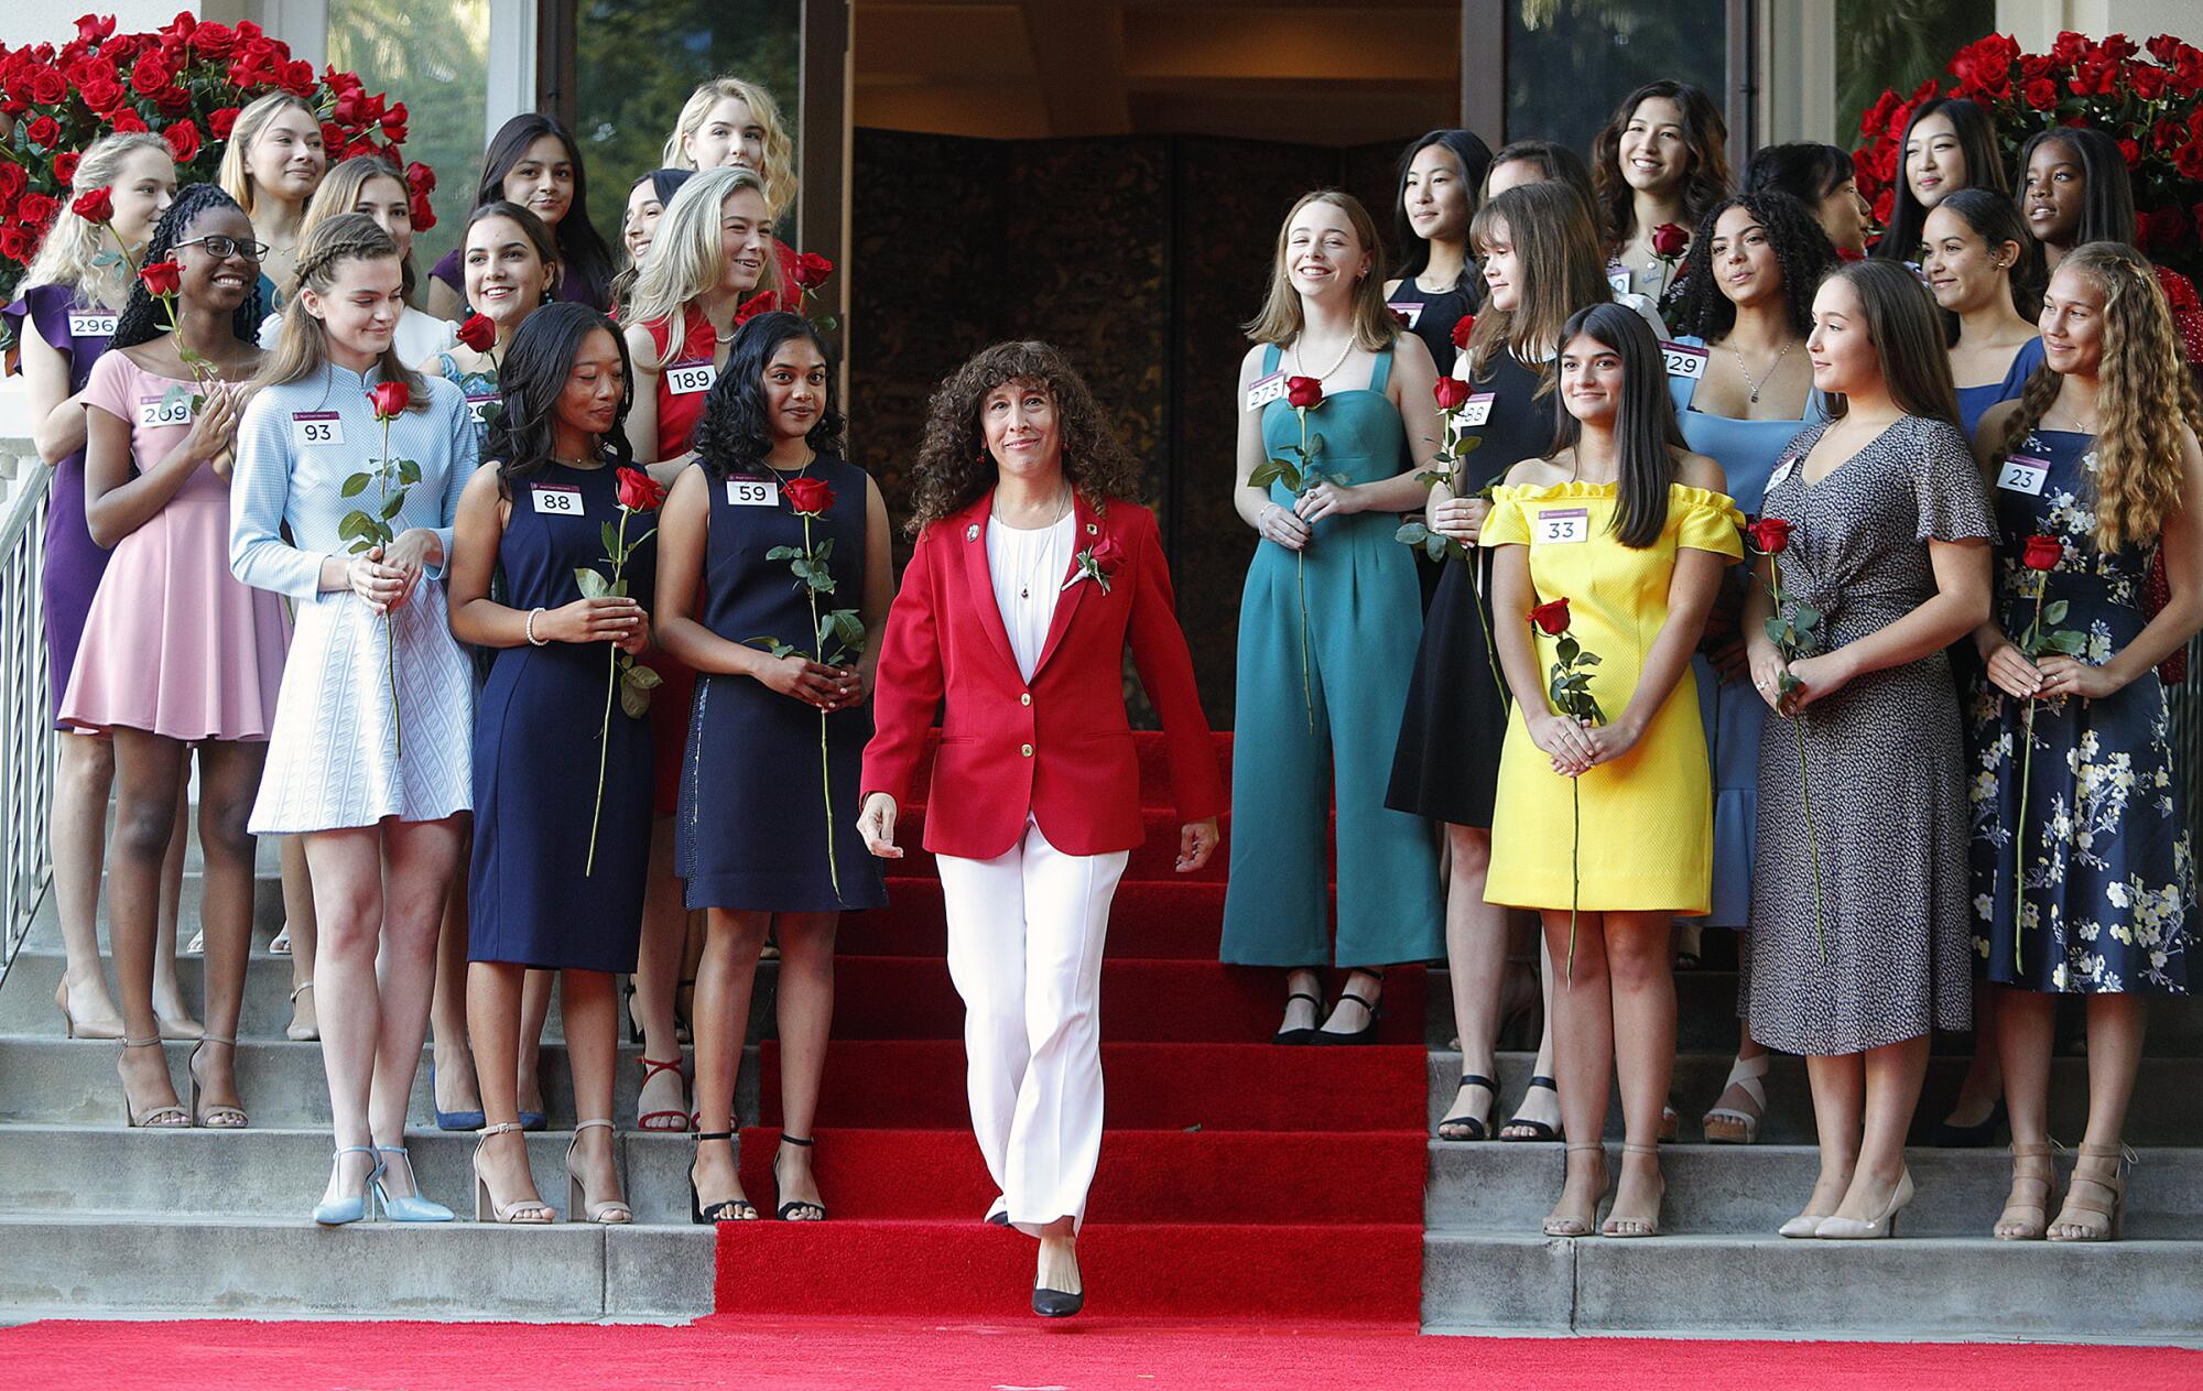
{"label": "mass of red roses at the upper left corner", "polygon": [[238,110],[269,92],[313,106],[328,163],[379,154],[405,169],[414,229],[434,224],[434,174],[408,167],[399,150],[405,103],[368,95],[359,75],[315,73],[251,20],[229,26],[183,11],[154,33],[115,33],[112,15],[84,15],[59,48],[0,46],[0,302],[15,295],[93,141],[150,130],[176,156],[176,183],[211,183]]}

